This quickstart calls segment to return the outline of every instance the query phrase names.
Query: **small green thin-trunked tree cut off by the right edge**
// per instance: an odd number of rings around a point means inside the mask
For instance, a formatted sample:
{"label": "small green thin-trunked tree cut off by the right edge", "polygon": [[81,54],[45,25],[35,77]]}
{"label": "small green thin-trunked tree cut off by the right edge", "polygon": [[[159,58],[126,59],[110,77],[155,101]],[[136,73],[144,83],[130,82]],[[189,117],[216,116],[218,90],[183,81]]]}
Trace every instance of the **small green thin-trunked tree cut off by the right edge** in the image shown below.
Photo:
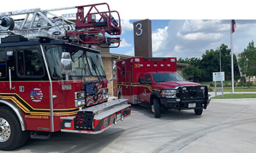
{"label": "small green thin-trunked tree cut off by the right edge", "polygon": [[249,78],[250,88],[250,78],[256,75],[256,49],[253,41],[249,42],[242,54],[243,56],[239,59],[239,65],[242,74]]}

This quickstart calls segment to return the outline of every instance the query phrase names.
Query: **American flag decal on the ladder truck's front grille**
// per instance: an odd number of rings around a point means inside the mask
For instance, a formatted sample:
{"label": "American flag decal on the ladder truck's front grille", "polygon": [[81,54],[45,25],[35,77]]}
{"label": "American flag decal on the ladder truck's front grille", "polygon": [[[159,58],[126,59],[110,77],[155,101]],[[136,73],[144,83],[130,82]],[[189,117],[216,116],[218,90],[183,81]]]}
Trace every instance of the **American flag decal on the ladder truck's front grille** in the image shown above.
{"label": "American flag decal on the ladder truck's front grille", "polygon": [[100,83],[90,83],[86,85],[86,105],[95,105],[102,102],[102,85]]}

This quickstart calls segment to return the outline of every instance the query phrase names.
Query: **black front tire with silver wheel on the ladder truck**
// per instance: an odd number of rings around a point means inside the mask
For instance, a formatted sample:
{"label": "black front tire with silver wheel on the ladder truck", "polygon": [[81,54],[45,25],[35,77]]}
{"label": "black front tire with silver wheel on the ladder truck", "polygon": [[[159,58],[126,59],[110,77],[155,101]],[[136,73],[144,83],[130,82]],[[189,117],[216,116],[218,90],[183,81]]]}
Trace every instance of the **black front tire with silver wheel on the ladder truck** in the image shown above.
{"label": "black front tire with silver wheel on the ladder truck", "polygon": [[16,114],[9,107],[0,107],[0,150],[14,150],[29,139],[29,132],[22,131]]}

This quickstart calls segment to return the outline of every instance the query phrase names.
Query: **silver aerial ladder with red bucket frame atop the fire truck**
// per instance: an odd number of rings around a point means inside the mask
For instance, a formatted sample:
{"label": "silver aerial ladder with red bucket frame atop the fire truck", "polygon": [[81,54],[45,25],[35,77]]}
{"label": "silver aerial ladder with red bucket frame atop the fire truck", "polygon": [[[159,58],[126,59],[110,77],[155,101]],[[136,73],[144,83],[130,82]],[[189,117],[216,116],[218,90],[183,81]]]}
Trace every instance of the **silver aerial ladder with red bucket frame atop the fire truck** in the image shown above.
{"label": "silver aerial ladder with red bucket frame atop the fire truck", "polygon": [[[99,11],[99,8],[105,8],[105,11]],[[70,9],[77,9],[77,13],[62,14],[62,16],[52,13]],[[19,15],[23,15],[23,18],[13,19],[13,16]],[[117,20],[113,16],[116,16]],[[76,19],[70,20],[70,17]],[[0,13],[2,37],[21,35],[29,40],[48,38],[82,45],[98,45],[101,48],[117,48],[120,45],[120,38],[111,38],[111,36],[120,35],[121,30],[119,13],[110,10],[107,3]],[[102,43],[108,43],[108,47],[102,46]],[[111,43],[117,45],[111,46]]]}

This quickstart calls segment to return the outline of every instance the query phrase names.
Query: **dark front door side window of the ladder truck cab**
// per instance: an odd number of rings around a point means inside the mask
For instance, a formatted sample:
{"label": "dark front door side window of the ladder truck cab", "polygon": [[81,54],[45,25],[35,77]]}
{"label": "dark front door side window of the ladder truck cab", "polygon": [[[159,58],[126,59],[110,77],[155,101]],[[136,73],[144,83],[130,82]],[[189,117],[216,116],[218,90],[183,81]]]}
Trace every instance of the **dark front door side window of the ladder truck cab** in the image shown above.
{"label": "dark front door side window of the ladder truck cab", "polygon": [[17,51],[17,70],[20,77],[43,76],[42,60],[37,49]]}

